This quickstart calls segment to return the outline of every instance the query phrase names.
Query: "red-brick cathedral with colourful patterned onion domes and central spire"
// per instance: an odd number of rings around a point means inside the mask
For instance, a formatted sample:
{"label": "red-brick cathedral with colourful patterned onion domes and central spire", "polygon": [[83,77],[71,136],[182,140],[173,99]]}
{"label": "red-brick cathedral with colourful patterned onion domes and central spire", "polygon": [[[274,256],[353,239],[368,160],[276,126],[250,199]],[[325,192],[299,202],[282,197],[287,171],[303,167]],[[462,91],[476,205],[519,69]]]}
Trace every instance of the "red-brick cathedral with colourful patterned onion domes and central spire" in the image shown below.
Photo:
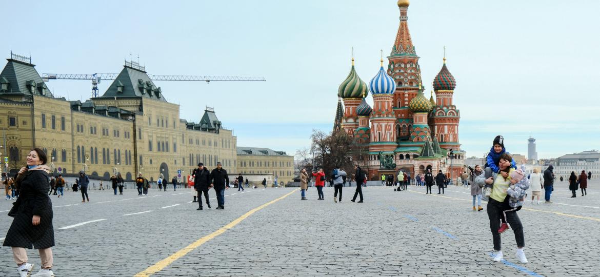
{"label": "red-brick cathedral with colourful patterned onion domes and central spire", "polygon": [[[464,152],[458,142],[460,112],[452,103],[456,80],[446,58],[433,80],[430,99],[425,98],[419,56],[410,39],[409,0],[398,1],[400,26],[387,70],[383,66],[368,86],[352,68],[338,89],[334,130],[352,136],[359,164],[369,179],[380,174],[415,173],[431,168],[457,177],[463,172]],[[373,96],[371,108],[365,98]],[[433,93],[435,92],[435,98]],[[342,106],[343,101],[343,106]]]}

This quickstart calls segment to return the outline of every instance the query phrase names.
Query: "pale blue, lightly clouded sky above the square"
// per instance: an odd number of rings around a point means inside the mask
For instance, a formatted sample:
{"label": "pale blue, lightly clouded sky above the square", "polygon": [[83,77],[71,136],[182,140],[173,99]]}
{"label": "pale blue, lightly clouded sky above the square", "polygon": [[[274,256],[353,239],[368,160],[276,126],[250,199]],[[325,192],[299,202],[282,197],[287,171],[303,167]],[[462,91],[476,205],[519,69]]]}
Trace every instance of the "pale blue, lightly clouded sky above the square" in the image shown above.
{"label": "pale blue, lightly clouded sky above the square", "polygon": [[[350,71],[365,82],[389,55],[394,0],[10,1],[0,53],[31,55],[41,73],[119,73],[133,58],[155,75],[236,75],[266,82],[155,82],[199,121],[214,107],[238,146],[293,154],[331,131]],[[413,0],[409,29],[425,88],[447,65],[457,79],[460,143],[483,156],[497,134],[539,158],[600,149],[600,1]],[[139,58],[138,58],[139,57]],[[387,61],[385,61],[387,63]],[[51,80],[53,94],[91,97],[91,82]],[[101,82],[100,94],[110,85]],[[428,94],[427,94],[428,96]],[[372,104],[372,98],[368,97]]]}

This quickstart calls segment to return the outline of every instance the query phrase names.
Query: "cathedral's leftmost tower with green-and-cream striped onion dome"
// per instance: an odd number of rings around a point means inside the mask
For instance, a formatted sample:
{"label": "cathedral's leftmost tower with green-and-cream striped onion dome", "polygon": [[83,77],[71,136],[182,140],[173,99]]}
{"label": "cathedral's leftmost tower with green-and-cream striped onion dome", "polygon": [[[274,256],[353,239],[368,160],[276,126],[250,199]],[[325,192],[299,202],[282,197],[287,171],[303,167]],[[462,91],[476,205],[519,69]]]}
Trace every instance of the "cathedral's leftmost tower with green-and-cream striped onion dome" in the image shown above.
{"label": "cathedral's leftmost tower with green-and-cream striped onion dome", "polygon": [[354,58],[352,58],[352,69],[346,77],[346,80],[338,88],[338,96],[344,101],[344,120],[341,127],[349,136],[354,134],[358,128],[358,115],[356,108],[362,102],[362,96],[367,94],[367,84],[358,77],[354,68]]}

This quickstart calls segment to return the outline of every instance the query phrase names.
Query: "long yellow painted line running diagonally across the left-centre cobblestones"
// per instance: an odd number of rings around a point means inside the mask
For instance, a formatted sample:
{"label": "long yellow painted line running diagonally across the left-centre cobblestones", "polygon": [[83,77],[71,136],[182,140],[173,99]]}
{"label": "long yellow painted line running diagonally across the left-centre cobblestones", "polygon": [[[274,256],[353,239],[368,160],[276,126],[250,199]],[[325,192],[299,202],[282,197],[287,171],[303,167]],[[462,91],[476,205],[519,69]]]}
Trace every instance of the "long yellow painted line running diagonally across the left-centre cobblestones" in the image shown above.
{"label": "long yellow painted line running diagonally across the left-centre cobblestones", "polygon": [[188,254],[188,252],[198,248],[200,245],[203,245],[204,243],[208,242],[209,240],[214,239],[218,235],[225,233],[225,231],[229,230],[230,228],[233,228],[235,225],[238,225],[239,222],[242,222],[244,219],[248,218],[248,216],[252,215],[253,213],[258,212],[259,210],[263,209],[264,207],[269,206],[270,204],[273,204],[283,198],[288,197],[289,195],[293,194],[296,191],[298,191],[298,189],[294,189],[292,192],[289,192],[288,194],[283,195],[282,197],[279,197],[275,200],[272,200],[268,203],[262,204],[258,207],[255,207],[254,209],[251,209],[249,212],[244,213],[244,215],[240,216],[239,218],[235,219],[232,222],[229,222],[229,224],[223,226],[219,230],[214,231],[211,234],[208,234],[208,236],[202,237],[199,240],[196,240],[195,242],[191,243],[188,246],[185,246],[185,248],[182,248],[181,250],[173,253],[172,255],[165,258],[164,260],[158,261],[158,263],[155,263],[154,265],[149,266],[147,269],[143,270],[142,272],[137,273],[136,275],[134,275],[134,277],[146,277],[146,276],[150,276],[154,273],[157,273],[160,270],[163,270],[165,267],[169,266],[169,264],[172,264],[178,258],[183,257],[185,254]]}

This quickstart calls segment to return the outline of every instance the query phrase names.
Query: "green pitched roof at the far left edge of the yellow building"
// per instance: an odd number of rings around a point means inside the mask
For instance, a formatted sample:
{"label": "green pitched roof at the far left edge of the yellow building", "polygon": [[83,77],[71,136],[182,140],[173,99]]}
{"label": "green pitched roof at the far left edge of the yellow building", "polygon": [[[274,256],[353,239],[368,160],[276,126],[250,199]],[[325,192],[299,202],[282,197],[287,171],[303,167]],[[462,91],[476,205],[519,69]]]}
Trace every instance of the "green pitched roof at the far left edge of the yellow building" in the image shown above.
{"label": "green pitched roof at the far left edge of the yellow building", "polygon": [[[35,70],[34,64],[18,61],[16,59],[7,59],[0,78],[8,81],[8,91],[0,91],[0,94],[29,94],[31,85],[35,85],[34,94],[54,97],[47,88],[40,74]],[[45,94],[42,90],[45,89]]]}

